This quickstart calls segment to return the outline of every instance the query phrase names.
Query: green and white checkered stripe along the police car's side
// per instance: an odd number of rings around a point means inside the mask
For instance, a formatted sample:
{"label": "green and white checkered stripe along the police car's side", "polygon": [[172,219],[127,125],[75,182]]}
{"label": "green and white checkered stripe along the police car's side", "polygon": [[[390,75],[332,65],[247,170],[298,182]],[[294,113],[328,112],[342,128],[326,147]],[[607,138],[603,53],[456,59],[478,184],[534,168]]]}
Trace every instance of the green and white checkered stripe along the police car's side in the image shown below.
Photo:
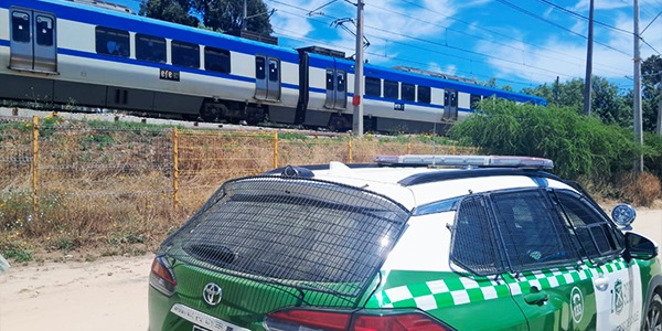
{"label": "green and white checkered stripe along the police car's side", "polygon": [[[612,273],[627,268],[621,258],[609,264],[590,267],[580,265],[577,268],[554,268],[540,271],[526,271],[511,277],[462,277],[458,274],[445,273],[444,278],[426,282],[408,284],[377,291],[373,295],[367,308],[419,308],[435,310],[449,306],[508,298],[528,292],[532,287],[538,289],[555,288],[597,277],[599,274]],[[391,273],[395,273],[392,270]],[[406,271],[403,271],[406,273]]]}

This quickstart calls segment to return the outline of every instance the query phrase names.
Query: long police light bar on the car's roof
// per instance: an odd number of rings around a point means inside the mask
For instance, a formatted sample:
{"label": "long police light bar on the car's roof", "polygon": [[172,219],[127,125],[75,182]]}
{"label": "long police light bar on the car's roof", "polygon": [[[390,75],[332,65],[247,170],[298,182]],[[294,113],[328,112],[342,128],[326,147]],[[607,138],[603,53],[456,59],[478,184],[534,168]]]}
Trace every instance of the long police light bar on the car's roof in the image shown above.
{"label": "long police light bar on the car's roof", "polygon": [[381,166],[409,166],[409,167],[466,167],[466,168],[523,168],[523,169],[553,169],[554,162],[549,159],[532,157],[501,157],[501,156],[377,156],[373,161]]}

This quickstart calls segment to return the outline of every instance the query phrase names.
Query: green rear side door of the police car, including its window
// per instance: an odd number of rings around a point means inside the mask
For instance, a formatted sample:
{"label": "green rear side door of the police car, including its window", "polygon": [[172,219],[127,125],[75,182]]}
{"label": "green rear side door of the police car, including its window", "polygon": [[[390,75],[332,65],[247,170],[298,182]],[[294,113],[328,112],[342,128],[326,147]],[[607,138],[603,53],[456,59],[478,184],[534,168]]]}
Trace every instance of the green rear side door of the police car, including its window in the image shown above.
{"label": "green rear side door of the police car, including its window", "polygon": [[564,220],[543,189],[490,196],[509,273],[530,330],[596,330],[596,292]]}

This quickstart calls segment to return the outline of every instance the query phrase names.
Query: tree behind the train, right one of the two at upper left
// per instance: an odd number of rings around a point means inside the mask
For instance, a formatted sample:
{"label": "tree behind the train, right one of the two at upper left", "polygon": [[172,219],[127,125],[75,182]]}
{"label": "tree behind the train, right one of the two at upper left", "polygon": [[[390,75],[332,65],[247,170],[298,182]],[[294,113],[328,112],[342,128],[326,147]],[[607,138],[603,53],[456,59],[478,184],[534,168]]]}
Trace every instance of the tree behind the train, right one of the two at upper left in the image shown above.
{"label": "tree behind the train, right one of the two at upper left", "polygon": [[[244,1],[241,0],[191,0],[192,8],[202,17],[206,28],[236,33],[242,30]],[[267,6],[263,0],[247,0],[246,30],[269,35],[274,32]]]}

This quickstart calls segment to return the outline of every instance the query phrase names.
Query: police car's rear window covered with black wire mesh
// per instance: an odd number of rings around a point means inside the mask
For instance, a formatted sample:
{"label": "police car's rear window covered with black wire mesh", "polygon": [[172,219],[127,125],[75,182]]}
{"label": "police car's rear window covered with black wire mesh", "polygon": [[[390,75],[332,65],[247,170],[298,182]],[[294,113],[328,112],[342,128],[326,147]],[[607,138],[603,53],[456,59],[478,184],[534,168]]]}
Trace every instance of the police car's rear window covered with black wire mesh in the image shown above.
{"label": "police car's rear window covered with black wire mesh", "polygon": [[402,205],[361,189],[249,178],[225,183],[162,249],[223,274],[357,296],[408,217]]}

